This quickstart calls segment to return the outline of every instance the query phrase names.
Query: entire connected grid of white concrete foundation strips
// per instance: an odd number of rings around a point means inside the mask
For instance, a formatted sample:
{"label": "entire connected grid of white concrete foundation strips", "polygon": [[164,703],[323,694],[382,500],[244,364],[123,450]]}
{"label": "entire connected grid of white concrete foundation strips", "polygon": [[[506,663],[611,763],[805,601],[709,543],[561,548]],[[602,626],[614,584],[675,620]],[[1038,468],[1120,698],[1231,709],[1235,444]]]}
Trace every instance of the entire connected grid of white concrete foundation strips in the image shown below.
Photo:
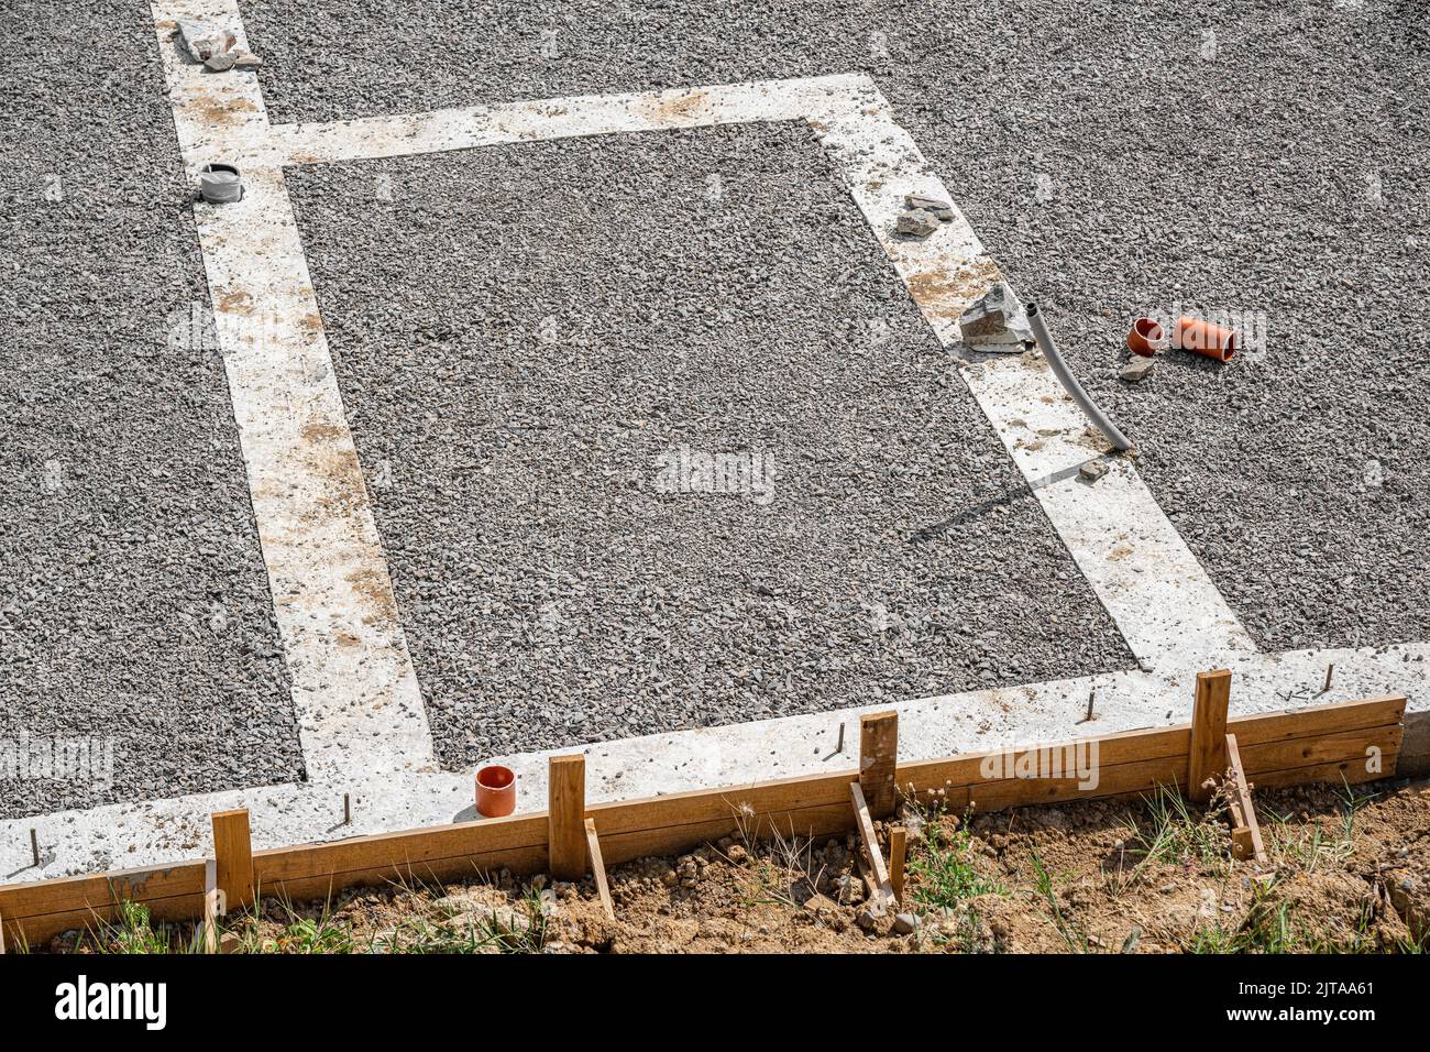
{"label": "entire connected grid of white concrete foundation strips", "polygon": [[[432,824],[469,813],[470,774],[438,770],[433,761],[283,186],[285,163],[802,119],[838,162],[940,341],[957,349],[958,316],[1001,278],[957,208],[954,222],[935,236],[909,240],[894,233],[905,193],[951,198],[862,76],[270,126],[253,77],[203,74],[170,39],[174,21],[184,17],[233,29],[246,46],[235,0],[156,0],[152,6],[190,176],[222,160],[242,167],[247,186],[242,202],[196,205],[196,222],[293,676],[309,783],[3,822],[0,876],[37,880],[89,869],[96,859],[144,866],[194,854],[209,842],[209,816],[226,809],[252,812],[266,844],[320,840],[339,829],[353,834]],[[1087,435],[1041,358],[972,359],[962,375],[1143,667],[901,703],[895,708],[905,730],[914,731],[905,756],[1065,739],[1090,690],[1098,696],[1101,730],[1167,724],[1185,711],[1195,670],[1214,664],[1236,670],[1251,698],[1247,708],[1310,698],[1304,684],[1318,681],[1327,660],[1340,666],[1341,697],[1414,693],[1424,681],[1426,644],[1258,654],[1130,462],[1118,461],[1095,487],[1077,479],[1077,465],[1105,448]],[[859,711],[589,746],[583,750],[589,792],[592,799],[615,800],[765,777],[755,757],[771,754],[784,774],[828,770],[842,721]],[[518,773],[519,810],[541,806],[549,756],[498,757]],[[358,804],[347,826],[339,822],[336,803],[345,793]],[[24,836],[30,826],[39,829],[49,852],[44,865],[29,857]]]}

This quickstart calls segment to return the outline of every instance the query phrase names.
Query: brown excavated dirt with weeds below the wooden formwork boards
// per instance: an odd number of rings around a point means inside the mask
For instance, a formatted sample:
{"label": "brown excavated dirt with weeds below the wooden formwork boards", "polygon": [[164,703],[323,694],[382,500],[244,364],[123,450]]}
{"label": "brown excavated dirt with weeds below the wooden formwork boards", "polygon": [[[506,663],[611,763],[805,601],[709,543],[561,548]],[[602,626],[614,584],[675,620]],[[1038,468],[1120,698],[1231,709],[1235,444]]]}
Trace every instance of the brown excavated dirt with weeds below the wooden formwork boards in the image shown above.
{"label": "brown excavated dirt with weeds below the wooden formwork boards", "polygon": [[[225,940],[262,953],[1364,953],[1430,939],[1430,781],[1267,792],[1257,809],[1264,863],[1231,857],[1216,804],[1183,812],[1168,796],[964,817],[905,806],[902,913],[862,926],[851,833],[724,839],[613,867],[615,922],[589,879],[498,873],[350,890],[330,907],[267,902]],[[879,836],[887,853],[882,823]],[[192,937],[183,926],[157,942]],[[99,939],[153,942],[142,927]],[[51,949],[76,946],[70,933]]]}

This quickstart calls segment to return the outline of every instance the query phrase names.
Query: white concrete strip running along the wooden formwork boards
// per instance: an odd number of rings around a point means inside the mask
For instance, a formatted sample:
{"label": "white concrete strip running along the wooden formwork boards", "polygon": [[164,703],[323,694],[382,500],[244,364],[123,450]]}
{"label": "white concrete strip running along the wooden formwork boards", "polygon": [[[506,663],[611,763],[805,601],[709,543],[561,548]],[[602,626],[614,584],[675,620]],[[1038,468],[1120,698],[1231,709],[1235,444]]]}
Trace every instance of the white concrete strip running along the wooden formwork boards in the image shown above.
{"label": "white concrete strip running along the wooden formwork boards", "polygon": [[[1244,654],[1233,668],[1233,716],[1406,694],[1410,708],[1430,708],[1430,646],[1384,650]],[[1334,687],[1318,693],[1326,664]],[[974,691],[905,701],[899,713],[899,759],[995,751],[1074,737],[1187,723],[1195,674],[1107,673],[1031,687]],[[1084,723],[1088,693],[1095,719]],[[881,706],[879,708],[888,708]],[[586,746],[588,799],[623,800],[725,784],[764,781],[858,766],[858,714],[851,708],[732,727],[709,727]],[[839,724],[844,751],[835,753]],[[528,753],[499,761],[518,774],[518,810],[546,806],[546,759]],[[343,822],[343,793],[353,822]],[[176,800],[114,804],[0,822],[0,882],[163,866],[212,854],[209,816],[247,807],[256,847],[393,832],[473,817],[470,773],[412,773],[400,781],[355,777],[327,786],[275,786]],[[37,830],[41,867],[31,866],[30,829]]]}

